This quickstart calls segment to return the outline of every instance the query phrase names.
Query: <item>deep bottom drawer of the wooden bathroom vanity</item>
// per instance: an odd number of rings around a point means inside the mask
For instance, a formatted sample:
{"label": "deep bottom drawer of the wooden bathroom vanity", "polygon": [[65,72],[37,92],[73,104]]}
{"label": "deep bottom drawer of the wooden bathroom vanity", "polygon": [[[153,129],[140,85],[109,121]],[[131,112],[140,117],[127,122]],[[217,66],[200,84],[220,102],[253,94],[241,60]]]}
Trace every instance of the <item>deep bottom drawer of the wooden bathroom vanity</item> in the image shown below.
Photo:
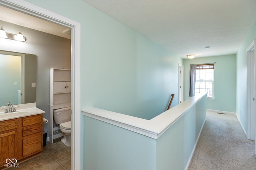
{"label": "deep bottom drawer of the wooden bathroom vanity", "polygon": [[42,151],[42,133],[23,139],[23,156]]}

